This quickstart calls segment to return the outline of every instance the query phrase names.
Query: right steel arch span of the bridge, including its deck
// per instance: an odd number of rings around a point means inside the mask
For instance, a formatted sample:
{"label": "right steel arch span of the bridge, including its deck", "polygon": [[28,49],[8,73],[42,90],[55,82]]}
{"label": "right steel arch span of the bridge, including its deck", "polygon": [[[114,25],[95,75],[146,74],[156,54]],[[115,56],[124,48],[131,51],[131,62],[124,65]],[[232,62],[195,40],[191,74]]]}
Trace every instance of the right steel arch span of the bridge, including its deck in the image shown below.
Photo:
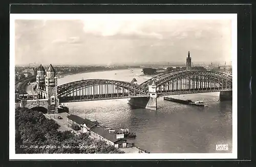
{"label": "right steel arch span of the bridge, including its deck", "polygon": [[148,90],[155,81],[158,95],[175,95],[232,90],[232,77],[215,71],[184,70],[164,73],[146,80],[140,86]]}

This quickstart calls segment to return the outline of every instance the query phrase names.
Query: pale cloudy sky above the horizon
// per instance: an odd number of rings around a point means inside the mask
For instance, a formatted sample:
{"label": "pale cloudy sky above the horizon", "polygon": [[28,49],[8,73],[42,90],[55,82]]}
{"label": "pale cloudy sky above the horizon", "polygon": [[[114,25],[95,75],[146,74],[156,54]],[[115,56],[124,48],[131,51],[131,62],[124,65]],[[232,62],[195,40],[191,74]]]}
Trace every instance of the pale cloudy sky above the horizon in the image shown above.
{"label": "pale cloudy sky above the horizon", "polygon": [[15,20],[15,64],[231,61],[231,20]]}

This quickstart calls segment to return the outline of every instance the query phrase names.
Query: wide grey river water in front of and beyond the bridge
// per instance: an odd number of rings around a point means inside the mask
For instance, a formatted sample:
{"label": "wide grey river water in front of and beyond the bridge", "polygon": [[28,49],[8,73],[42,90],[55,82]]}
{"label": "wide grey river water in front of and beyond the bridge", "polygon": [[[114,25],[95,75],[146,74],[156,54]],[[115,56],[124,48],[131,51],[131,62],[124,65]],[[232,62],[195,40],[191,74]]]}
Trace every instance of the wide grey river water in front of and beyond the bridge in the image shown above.
{"label": "wide grey river water in front of and beyond the bridge", "polygon": [[[58,85],[81,79],[113,79],[141,84],[152,76],[141,69],[79,73],[58,79]],[[151,153],[217,153],[216,144],[228,144],[232,152],[232,102],[219,101],[219,92],[175,95],[180,99],[203,100],[198,107],[157,98],[157,110],[132,109],[128,99],[65,103],[82,118],[96,118],[113,128],[129,128],[137,137],[130,142]]]}

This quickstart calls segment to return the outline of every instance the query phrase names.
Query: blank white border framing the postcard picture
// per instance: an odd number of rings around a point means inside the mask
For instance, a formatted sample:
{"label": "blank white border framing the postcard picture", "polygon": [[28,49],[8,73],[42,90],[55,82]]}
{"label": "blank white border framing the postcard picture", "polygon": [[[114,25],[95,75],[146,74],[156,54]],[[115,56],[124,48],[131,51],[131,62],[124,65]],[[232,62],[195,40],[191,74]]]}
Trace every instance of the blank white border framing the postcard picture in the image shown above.
{"label": "blank white border framing the postcard picture", "polygon": [[[232,20],[232,153],[179,154],[15,154],[15,20],[16,19],[230,19]],[[9,159],[236,159],[237,141],[237,14],[10,14]]]}

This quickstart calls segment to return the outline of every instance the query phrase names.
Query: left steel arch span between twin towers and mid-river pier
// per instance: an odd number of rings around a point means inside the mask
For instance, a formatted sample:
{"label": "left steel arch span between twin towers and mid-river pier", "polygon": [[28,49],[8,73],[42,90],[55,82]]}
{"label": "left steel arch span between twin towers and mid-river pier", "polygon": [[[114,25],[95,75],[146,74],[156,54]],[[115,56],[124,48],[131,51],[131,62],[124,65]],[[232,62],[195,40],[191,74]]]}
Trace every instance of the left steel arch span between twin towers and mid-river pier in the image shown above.
{"label": "left steel arch span between twin towers and mid-river pier", "polygon": [[60,102],[146,97],[143,87],[120,80],[78,80],[57,87]]}

